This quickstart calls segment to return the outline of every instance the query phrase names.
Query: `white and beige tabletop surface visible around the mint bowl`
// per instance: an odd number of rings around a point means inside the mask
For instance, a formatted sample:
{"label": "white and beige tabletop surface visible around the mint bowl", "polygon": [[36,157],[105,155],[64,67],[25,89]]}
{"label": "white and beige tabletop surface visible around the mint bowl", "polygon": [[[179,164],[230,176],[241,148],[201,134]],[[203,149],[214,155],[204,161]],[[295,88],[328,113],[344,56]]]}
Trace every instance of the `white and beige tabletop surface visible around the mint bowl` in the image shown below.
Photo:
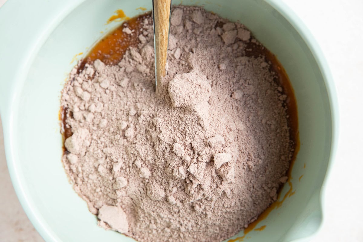
{"label": "white and beige tabletop surface visible around the mint bowl", "polygon": [[[7,0],[0,0],[0,6]],[[305,22],[330,65],[339,98],[337,155],[327,182],[325,222],[312,242],[363,242],[363,1],[284,0]],[[1,39],[1,37],[0,37]],[[11,185],[0,121],[0,241],[41,242]]]}

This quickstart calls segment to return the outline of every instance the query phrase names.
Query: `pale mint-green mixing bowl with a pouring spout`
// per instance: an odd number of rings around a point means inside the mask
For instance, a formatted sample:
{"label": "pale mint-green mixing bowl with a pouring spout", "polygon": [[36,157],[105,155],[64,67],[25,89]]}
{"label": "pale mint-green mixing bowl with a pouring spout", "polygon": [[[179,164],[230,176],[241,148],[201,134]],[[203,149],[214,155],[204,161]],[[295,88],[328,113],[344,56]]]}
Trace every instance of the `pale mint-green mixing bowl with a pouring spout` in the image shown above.
{"label": "pale mint-green mixing bowl with a pouring spout", "polygon": [[[320,49],[278,0],[183,4],[241,21],[285,67],[297,98],[301,141],[292,170],[295,194],[257,225],[266,225],[263,231],[251,231],[244,241],[306,239],[323,221],[323,181],[337,143],[337,98]],[[0,8],[0,114],[9,172],[26,214],[48,242],[133,241],[97,227],[68,183],[58,111],[72,57],[119,24],[105,25],[116,9],[135,16],[138,7],[151,10],[151,0],[9,0]]]}

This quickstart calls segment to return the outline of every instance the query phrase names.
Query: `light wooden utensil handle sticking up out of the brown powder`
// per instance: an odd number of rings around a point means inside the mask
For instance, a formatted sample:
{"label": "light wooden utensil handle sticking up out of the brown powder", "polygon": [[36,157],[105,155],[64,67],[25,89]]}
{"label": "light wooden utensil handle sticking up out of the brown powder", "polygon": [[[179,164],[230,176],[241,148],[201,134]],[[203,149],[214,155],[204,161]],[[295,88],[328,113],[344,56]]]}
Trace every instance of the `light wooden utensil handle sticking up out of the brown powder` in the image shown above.
{"label": "light wooden utensil handle sticking up out of the brown powder", "polygon": [[161,78],[165,76],[168,55],[171,0],[152,0],[152,17],[154,19],[155,47],[155,89],[161,86]]}

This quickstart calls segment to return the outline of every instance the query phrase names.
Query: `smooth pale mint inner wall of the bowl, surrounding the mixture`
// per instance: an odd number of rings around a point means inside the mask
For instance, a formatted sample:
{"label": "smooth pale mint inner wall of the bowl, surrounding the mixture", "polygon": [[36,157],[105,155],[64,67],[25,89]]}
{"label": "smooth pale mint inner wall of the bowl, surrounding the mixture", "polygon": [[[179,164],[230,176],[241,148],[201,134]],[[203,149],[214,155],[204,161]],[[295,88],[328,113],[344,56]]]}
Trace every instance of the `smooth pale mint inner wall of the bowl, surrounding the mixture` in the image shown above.
{"label": "smooth pale mint inner wall of the bowl, surrounding the mixture", "polygon": [[[76,64],[72,57],[87,53],[102,34],[119,23],[105,25],[116,9],[127,16],[151,10],[150,0],[78,0],[23,70],[10,126],[12,162],[29,209],[28,216],[47,241],[134,241],[97,227],[96,217],[73,191],[64,172],[58,111],[60,91]],[[179,4],[178,1],[173,1]],[[291,241],[310,235],[321,223],[320,188],[330,157],[332,117],[329,95],[319,64],[309,45],[281,14],[281,4],[262,0],[191,1],[233,21],[240,21],[269,48],[282,65],[295,90],[301,147],[292,171],[295,194],[274,209],[245,241]],[[272,7],[274,6],[274,7]],[[84,56],[84,54],[83,54]],[[80,56],[79,58],[81,58]],[[305,168],[304,168],[305,167]],[[303,177],[299,179],[299,177]],[[13,178],[14,179],[14,178]],[[282,193],[289,186],[285,185]],[[19,191],[18,191],[19,194]],[[241,233],[240,235],[243,235]]]}

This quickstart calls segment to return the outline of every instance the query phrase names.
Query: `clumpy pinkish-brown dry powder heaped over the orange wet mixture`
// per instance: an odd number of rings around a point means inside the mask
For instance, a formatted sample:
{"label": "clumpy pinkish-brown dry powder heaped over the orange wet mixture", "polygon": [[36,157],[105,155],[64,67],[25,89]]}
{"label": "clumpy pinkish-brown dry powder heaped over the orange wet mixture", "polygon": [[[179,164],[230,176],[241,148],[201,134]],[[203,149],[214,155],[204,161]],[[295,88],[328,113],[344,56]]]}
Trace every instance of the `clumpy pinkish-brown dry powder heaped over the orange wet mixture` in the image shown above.
{"label": "clumpy pinkish-brown dry powder heaped over the orange wet mixture", "polygon": [[245,56],[258,42],[244,25],[177,7],[156,97],[151,17],[141,28],[118,65],[70,74],[66,172],[105,229],[140,242],[222,241],[287,180],[286,95],[264,57]]}

